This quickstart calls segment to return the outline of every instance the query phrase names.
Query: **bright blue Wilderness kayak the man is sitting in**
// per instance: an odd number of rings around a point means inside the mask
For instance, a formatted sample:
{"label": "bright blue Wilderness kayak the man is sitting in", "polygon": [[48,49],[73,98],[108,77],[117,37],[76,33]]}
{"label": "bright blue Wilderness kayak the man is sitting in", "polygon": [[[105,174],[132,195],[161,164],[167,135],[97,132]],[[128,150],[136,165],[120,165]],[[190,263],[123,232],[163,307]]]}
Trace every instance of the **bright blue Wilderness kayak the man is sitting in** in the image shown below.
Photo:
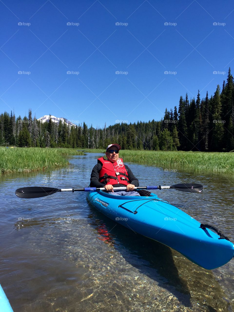
{"label": "bright blue Wilderness kayak the man is sitting in", "polygon": [[169,246],[205,269],[223,266],[234,256],[234,245],[154,193],[116,196],[90,191],[89,202],[100,212],[139,234]]}

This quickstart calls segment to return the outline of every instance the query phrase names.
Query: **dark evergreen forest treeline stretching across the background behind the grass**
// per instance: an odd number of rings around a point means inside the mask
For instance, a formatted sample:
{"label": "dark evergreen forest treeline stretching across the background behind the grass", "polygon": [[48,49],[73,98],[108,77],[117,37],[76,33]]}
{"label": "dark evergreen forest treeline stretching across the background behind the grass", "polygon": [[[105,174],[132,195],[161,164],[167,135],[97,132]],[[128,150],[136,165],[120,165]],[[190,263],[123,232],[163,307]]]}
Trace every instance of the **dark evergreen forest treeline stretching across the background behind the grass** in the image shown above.
{"label": "dark evergreen forest treeline stretching across the background behind the grass", "polygon": [[181,96],[179,106],[166,109],[164,118],[134,124],[114,124],[109,127],[88,128],[87,124],[68,126],[66,123],[42,123],[28,116],[0,115],[0,145],[19,147],[63,147],[104,149],[110,143],[122,149],[231,151],[234,149],[234,82],[229,68],[227,82],[223,81],[214,95],[188,100]]}

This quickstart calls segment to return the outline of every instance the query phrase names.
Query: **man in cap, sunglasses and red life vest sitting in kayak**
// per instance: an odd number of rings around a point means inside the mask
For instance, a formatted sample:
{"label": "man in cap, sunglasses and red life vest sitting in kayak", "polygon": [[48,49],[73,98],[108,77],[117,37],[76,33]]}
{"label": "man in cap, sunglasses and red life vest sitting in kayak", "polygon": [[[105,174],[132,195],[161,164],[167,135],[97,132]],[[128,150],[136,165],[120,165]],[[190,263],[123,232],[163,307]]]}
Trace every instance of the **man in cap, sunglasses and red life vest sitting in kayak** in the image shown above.
{"label": "man in cap, sunglasses and red life vest sitting in kayak", "polygon": [[[134,191],[135,186],[139,186],[138,179],[134,176],[128,166],[124,165],[123,159],[119,158],[119,144],[110,144],[106,149],[107,159],[100,157],[98,163],[94,166],[90,187],[105,188],[106,192],[112,192],[112,195],[122,196],[140,196]],[[126,191],[115,191],[114,187],[125,186]]]}

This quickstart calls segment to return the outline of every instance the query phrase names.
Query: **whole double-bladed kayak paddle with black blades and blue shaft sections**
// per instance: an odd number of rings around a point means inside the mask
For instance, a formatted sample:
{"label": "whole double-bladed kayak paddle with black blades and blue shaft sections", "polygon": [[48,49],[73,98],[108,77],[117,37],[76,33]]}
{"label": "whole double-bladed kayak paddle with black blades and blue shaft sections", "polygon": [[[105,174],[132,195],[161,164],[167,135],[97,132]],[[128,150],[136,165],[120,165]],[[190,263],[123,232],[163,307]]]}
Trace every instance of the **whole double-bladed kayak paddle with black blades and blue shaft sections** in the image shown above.
{"label": "whole double-bladed kayak paddle with black blades and blue shaft sections", "polygon": [[[134,190],[163,190],[163,189],[169,189],[173,188],[178,191],[182,192],[189,192],[189,193],[198,193],[203,190],[203,186],[201,184],[192,184],[192,183],[181,183],[181,184],[175,184],[172,186],[139,186],[135,187]],[[124,191],[126,190],[126,187],[119,187],[119,188],[113,188],[114,191]],[[44,187],[44,186],[32,186],[32,187],[26,187],[26,188],[18,188],[15,191],[16,196],[20,198],[38,198],[38,197],[44,197],[48,195],[52,195],[57,192],[94,192],[94,191],[105,191],[105,188],[50,188],[50,187]]]}

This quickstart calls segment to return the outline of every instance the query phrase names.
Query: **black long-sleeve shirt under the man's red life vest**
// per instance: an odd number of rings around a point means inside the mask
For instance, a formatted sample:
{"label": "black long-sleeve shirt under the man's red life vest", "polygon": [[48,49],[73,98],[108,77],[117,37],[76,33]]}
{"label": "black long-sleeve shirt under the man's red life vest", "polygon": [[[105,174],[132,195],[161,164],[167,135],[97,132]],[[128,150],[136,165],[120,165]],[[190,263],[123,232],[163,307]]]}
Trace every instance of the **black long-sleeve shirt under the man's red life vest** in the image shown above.
{"label": "black long-sleeve shirt under the man's red life vest", "polygon": [[[132,173],[131,169],[129,169],[128,166],[124,165],[126,170],[128,171],[128,178],[129,178],[129,183],[133,184],[135,186],[139,186],[139,181],[138,179],[134,176],[134,174]],[[91,173],[91,178],[90,178],[90,187],[91,188],[103,188],[105,186],[105,183],[101,183],[99,182],[99,172],[102,168],[102,164],[101,163],[97,163],[92,170]],[[113,184],[113,187],[119,187],[119,186],[126,186],[124,184]]]}

